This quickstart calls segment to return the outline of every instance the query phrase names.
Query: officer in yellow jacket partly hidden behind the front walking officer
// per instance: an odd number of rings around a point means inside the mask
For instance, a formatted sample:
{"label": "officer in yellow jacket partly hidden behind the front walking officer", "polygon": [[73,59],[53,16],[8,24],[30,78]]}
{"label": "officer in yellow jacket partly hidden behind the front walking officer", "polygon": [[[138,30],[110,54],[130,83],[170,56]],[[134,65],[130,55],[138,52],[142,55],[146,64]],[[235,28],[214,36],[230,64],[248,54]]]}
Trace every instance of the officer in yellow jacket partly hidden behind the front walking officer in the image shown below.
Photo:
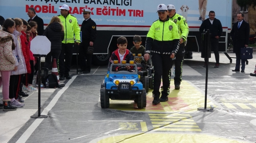
{"label": "officer in yellow jacket partly hidden behind the front walking officer", "polygon": [[[185,46],[186,40],[189,34],[189,26],[186,19],[181,16],[180,14],[176,13],[175,7],[172,4],[167,5],[168,15],[170,19],[176,23],[179,33],[180,33],[180,48],[176,54],[175,63],[175,77],[174,77],[174,85],[175,89],[180,89],[180,84],[182,81],[182,64],[184,61],[184,53],[185,53]],[[171,77],[171,73],[170,73]]]}

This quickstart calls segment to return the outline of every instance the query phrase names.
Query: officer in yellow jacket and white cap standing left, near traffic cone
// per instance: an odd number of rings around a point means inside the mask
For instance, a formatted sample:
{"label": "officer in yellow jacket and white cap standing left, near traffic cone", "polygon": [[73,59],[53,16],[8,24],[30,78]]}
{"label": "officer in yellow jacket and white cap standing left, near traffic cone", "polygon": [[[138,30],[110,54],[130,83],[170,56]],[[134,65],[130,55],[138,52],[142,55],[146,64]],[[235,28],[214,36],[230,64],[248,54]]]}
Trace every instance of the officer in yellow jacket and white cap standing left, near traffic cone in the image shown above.
{"label": "officer in yellow jacket and white cap standing left, near traffic cone", "polygon": [[60,80],[64,80],[64,78],[71,79],[68,72],[70,72],[74,43],[77,45],[80,43],[80,28],[76,17],[69,13],[70,8],[68,5],[63,4],[59,9],[61,9],[61,15],[58,15],[58,17],[61,19],[61,23],[64,26],[65,37],[62,41],[58,66],[60,69]]}

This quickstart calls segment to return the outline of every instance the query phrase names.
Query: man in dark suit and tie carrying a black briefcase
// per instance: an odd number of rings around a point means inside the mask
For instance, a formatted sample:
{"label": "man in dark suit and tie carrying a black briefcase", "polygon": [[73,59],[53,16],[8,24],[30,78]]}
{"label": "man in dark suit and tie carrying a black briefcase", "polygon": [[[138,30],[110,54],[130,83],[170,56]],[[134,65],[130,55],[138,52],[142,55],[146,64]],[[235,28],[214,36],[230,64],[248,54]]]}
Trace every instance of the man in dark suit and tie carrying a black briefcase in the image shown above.
{"label": "man in dark suit and tie carrying a black briefcase", "polygon": [[236,68],[232,72],[240,71],[240,62],[241,62],[241,72],[245,72],[245,59],[240,57],[240,49],[248,47],[249,44],[249,34],[250,26],[244,20],[244,13],[239,12],[237,14],[237,22],[233,25],[230,32],[231,38],[233,40],[233,53],[236,53]]}

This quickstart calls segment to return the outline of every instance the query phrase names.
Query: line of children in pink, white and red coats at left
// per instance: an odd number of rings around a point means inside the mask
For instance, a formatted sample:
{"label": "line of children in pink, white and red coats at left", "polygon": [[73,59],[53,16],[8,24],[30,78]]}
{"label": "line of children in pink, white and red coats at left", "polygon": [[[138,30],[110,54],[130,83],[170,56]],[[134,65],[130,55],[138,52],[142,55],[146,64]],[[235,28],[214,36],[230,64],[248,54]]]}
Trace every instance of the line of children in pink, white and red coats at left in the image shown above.
{"label": "line of children in pink, white and red coats at left", "polygon": [[0,30],[0,87],[3,85],[3,111],[23,107],[23,90],[36,91],[32,86],[35,59],[30,41],[37,35],[37,23],[24,19],[6,19]]}

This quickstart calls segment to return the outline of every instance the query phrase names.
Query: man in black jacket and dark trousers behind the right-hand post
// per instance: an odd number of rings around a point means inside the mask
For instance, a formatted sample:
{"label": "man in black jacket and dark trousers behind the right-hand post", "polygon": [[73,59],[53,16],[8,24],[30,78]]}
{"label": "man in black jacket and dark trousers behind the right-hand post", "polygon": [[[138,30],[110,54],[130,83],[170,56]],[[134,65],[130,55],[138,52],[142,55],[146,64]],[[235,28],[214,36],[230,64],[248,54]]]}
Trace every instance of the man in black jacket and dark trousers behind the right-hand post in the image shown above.
{"label": "man in black jacket and dark trousers behind the right-hand post", "polygon": [[[219,55],[219,38],[222,34],[222,25],[220,20],[215,18],[215,12],[209,12],[209,18],[204,20],[201,24],[199,31],[203,33],[203,31],[210,30],[211,33],[211,49],[214,52],[216,64],[214,68],[219,68],[220,66],[220,55]],[[205,47],[203,47],[205,48]],[[204,59],[204,66],[206,67],[206,59]]]}

